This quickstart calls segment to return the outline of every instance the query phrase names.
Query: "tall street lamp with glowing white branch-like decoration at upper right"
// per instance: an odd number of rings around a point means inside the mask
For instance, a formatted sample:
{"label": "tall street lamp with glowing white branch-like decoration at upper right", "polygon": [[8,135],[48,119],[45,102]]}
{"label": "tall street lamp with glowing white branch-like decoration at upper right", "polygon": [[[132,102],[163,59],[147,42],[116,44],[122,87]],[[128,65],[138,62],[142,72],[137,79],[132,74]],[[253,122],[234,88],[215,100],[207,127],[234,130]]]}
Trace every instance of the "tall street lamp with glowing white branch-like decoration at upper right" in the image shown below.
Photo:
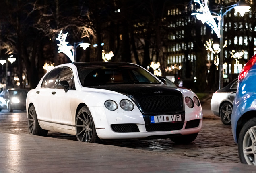
{"label": "tall street lamp with glowing white branch-like decoration at upper right", "polygon": [[[219,89],[223,87],[223,28],[224,28],[224,16],[235,8],[236,12],[239,12],[241,16],[244,16],[245,12],[250,11],[249,3],[246,0],[240,0],[237,4],[227,6],[225,8],[220,8],[220,14],[215,12],[210,12],[208,8],[208,0],[204,0],[204,3],[201,0],[194,0],[194,2],[200,5],[199,12],[192,13],[191,15],[195,15],[198,20],[201,20],[203,23],[211,26],[215,34],[220,39],[220,57],[219,57]],[[223,13],[223,9],[227,9]],[[212,15],[215,14],[215,15]],[[217,18],[218,23],[215,22],[214,18]]]}

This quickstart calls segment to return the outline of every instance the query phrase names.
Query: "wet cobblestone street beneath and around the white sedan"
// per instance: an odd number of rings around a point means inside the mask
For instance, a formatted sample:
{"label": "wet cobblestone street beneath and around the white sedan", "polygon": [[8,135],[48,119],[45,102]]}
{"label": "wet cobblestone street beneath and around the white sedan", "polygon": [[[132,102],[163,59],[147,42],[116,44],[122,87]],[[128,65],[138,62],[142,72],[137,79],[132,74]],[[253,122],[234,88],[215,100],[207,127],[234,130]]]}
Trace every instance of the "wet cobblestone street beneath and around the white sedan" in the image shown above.
{"label": "wet cobblestone street beneath and around the white sedan", "polygon": [[[14,113],[8,113],[7,110],[0,112],[1,132],[19,135],[28,133],[27,129],[25,112],[14,111]],[[76,141],[76,137],[73,135],[51,131],[49,131],[47,137]],[[240,162],[237,145],[231,133],[231,126],[223,125],[220,119],[204,119],[198,137],[188,145],[178,145],[170,139],[107,141],[105,144],[161,152],[164,155],[180,155],[209,162]]]}

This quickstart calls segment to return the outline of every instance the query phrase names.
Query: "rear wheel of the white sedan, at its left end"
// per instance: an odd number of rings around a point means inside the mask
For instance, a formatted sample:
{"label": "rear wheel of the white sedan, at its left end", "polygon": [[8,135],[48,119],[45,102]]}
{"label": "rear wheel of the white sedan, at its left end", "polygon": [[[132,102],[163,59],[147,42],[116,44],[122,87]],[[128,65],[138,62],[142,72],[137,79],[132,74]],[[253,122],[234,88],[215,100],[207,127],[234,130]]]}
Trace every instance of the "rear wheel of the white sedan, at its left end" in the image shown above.
{"label": "rear wheel of the white sedan, at its left end", "polygon": [[32,105],[29,108],[28,127],[29,127],[29,134],[31,134],[31,135],[46,136],[48,133],[47,130],[44,130],[40,127],[40,125],[38,123],[37,113],[35,112],[34,105]]}

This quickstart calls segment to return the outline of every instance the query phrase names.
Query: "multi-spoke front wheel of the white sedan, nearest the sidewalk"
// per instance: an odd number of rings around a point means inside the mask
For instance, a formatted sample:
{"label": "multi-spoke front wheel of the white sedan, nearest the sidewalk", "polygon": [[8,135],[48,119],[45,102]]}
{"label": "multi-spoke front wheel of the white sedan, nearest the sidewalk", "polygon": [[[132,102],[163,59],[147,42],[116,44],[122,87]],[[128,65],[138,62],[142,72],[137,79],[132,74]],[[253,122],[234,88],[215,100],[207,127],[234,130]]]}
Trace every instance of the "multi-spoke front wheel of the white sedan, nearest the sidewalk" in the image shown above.
{"label": "multi-spoke front wheel of the white sedan, nearest the sidewalk", "polygon": [[76,138],[78,141],[99,143],[91,112],[87,106],[82,107],[76,117]]}

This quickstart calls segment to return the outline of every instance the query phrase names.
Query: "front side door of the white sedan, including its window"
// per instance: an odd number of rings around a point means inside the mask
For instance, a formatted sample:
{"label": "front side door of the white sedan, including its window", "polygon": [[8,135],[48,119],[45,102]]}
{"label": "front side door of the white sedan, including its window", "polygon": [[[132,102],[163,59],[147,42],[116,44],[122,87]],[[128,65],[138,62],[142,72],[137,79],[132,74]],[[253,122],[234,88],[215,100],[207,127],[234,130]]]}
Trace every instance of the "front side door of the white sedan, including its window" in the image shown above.
{"label": "front side door of the white sedan, including its window", "polygon": [[[55,88],[51,91],[51,115],[52,122],[55,127],[63,129],[72,129],[72,108],[70,107],[70,100],[75,95],[74,77],[71,68],[64,67],[60,72],[57,82],[66,81],[68,82],[68,91],[64,90],[63,87]],[[73,108],[75,109],[75,108]]]}

